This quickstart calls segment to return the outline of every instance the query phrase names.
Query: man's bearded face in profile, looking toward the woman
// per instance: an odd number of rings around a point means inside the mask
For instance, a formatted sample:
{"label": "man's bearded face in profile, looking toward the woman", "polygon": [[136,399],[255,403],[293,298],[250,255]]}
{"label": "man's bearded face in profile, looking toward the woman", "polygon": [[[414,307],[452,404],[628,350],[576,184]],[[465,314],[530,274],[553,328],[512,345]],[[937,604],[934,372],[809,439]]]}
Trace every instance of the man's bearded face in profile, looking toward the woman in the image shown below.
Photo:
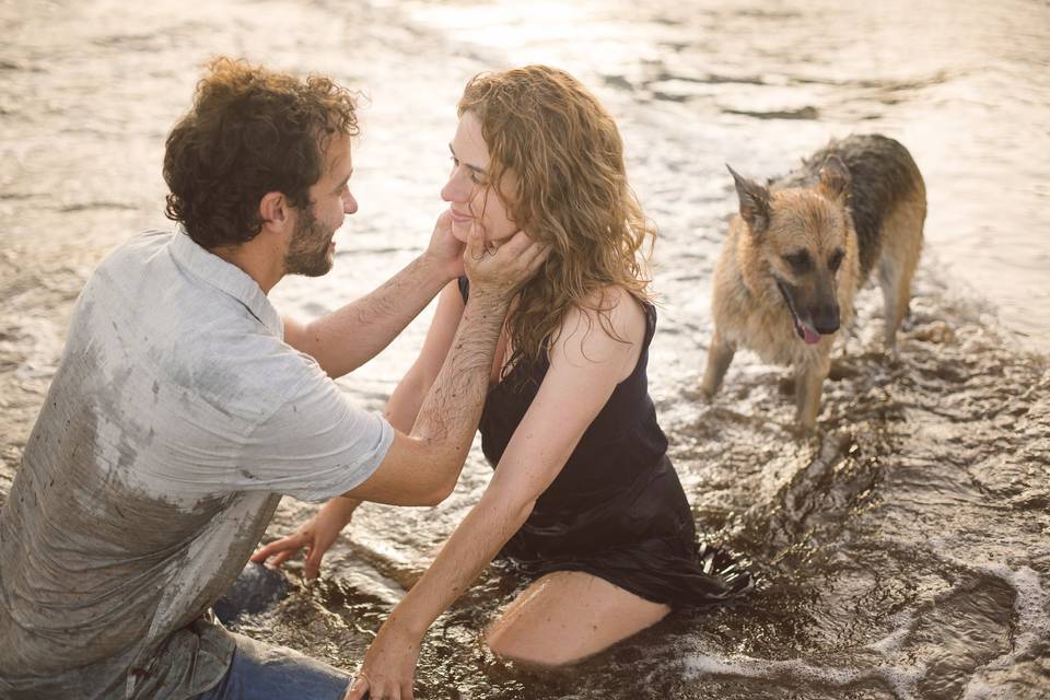
{"label": "man's bearded face in profile, looking toward the woman", "polygon": [[324,173],[310,188],[310,206],[295,210],[295,230],[284,255],[287,275],[320,277],[331,269],[336,244],[332,236],[346,214],[358,210],[350,194],[350,137],[336,136],[325,151]]}

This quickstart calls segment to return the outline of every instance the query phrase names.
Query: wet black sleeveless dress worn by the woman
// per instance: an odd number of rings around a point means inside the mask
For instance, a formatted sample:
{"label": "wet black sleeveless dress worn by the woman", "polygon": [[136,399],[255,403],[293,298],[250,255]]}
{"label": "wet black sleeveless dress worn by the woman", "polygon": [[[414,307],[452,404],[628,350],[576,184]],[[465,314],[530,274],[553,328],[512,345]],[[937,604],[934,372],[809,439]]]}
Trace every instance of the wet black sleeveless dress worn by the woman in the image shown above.
{"label": "wet black sleeveless dress worn by the woman", "polygon": [[[459,289],[466,300],[466,278]],[[649,396],[645,370],[656,310],[648,303],[644,310],[645,339],[633,372],[617,385],[500,555],[534,576],[583,571],[654,603],[720,603],[746,590],[750,578],[724,553],[697,545],[692,513]],[[493,467],[549,366],[546,354],[520,361],[489,390],[481,450]]]}

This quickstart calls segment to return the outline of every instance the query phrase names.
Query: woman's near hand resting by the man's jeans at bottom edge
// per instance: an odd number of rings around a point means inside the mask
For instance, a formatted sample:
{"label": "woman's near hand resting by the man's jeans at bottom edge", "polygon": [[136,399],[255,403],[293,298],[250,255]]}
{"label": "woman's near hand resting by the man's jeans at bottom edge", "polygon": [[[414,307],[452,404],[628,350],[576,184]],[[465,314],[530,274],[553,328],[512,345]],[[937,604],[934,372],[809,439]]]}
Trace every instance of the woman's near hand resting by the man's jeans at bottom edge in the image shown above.
{"label": "woman's near hand resting by the man's jeans at bottom edge", "polygon": [[422,635],[390,617],[364,655],[361,670],[343,700],[411,700]]}

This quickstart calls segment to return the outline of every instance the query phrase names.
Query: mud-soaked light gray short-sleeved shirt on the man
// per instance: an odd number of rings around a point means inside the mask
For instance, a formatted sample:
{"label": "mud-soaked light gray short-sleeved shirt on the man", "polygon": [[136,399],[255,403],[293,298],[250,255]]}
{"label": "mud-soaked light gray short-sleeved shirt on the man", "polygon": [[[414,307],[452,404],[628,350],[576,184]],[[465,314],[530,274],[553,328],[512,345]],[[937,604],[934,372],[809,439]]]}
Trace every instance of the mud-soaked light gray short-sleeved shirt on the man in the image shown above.
{"label": "mud-soaked light gray short-sleeved shirt on the man", "polygon": [[394,439],[282,337],[258,284],[180,231],[102,262],[0,511],[0,697],[188,698],[223,676],[206,611],[280,494],[348,491]]}

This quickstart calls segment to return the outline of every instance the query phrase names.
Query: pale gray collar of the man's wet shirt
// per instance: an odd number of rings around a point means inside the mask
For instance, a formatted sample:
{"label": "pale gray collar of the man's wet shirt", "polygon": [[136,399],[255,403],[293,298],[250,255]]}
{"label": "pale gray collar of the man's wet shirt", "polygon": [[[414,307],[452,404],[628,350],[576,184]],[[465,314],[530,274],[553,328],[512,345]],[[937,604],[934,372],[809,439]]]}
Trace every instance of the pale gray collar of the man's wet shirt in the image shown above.
{"label": "pale gray collar of the man's wet shirt", "polygon": [[267,330],[278,338],[284,337],[280,314],[262,293],[258,282],[244,270],[200,247],[189,237],[182,224],[175,228],[171,250],[175,260],[200,281],[233,296],[244,304]]}

